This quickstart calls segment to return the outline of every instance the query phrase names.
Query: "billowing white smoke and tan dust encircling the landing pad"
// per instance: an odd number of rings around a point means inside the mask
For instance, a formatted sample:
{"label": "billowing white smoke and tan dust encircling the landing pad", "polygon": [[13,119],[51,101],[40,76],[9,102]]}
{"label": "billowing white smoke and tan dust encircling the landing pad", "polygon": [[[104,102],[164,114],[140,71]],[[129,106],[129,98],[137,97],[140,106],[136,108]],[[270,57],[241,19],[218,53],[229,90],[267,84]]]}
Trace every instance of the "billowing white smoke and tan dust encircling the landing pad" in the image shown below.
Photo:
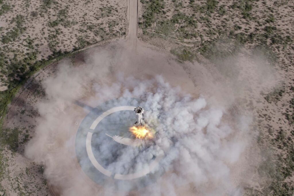
{"label": "billowing white smoke and tan dust encircling the landing pad", "polygon": [[[150,123],[156,131],[153,143],[143,150],[120,149],[119,157],[108,169],[116,173],[141,170],[153,155],[164,156],[152,171],[163,175],[156,183],[133,193],[241,195],[242,189],[231,180],[230,167],[239,160],[246,146],[249,122],[239,119],[246,123],[238,125],[239,117],[232,119],[223,106],[211,106],[202,96],[192,97],[181,87],[170,86],[162,76],[138,80],[118,74],[112,81],[101,83],[99,76],[107,76],[111,67],[110,62],[103,61],[105,56],[101,54],[99,58],[103,62],[99,67],[103,69],[96,68],[95,60],[86,62],[82,68],[65,62],[55,77],[44,81],[47,99],[38,105],[36,135],[29,142],[26,155],[45,165],[49,182],[62,195],[128,195],[128,191],[113,190],[111,182],[104,187],[96,185],[81,172],[75,157],[77,127],[73,124],[88,111],[73,102],[81,100],[95,106],[113,98],[134,97],[145,100],[147,122],[157,119]],[[113,141],[97,142],[103,149],[99,155],[109,160],[111,152],[107,145]]]}

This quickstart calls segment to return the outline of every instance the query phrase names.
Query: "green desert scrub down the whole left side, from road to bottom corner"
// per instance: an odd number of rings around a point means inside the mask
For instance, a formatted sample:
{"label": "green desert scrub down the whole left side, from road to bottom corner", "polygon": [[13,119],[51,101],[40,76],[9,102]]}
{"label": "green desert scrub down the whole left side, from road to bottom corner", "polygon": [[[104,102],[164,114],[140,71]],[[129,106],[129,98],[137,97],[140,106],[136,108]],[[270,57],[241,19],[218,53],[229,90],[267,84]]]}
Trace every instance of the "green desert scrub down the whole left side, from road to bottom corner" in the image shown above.
{"label": "green desert scrub down the whole left side, from road to bottom corner", "polygon": [[[80,6],[80,2],[75,0],[21,0],[14,4],[13,1],[0,0],[0,192],[5,195],[9,192],[46,195],[44,193],[48,192],[43,174],[35,171],[37,165],[32,163],[24,169],[23,165],[16,166],[14,162],[16,156],[23,154],[33,126],[4,128],[9,103],[34,73],[71,56],[75,44],[83,48],[89,43],[125,35],[125,2],[108,4],[105,1],[88,1]],[[94,28],[88,31],[86,26]],[[31,97],[44,96],[42,89],[34,90]],[[19,122],[24,124],[27,123],[24,119],[37,115],[31,110],[17,112],[21,115]],[[15,169],[12,172],[11,168],[16,167],[17,172],[14,173]],[[3,179],[7,180],[6,187],[1,186]],[[41,180],[34,182],[36,179]]]}

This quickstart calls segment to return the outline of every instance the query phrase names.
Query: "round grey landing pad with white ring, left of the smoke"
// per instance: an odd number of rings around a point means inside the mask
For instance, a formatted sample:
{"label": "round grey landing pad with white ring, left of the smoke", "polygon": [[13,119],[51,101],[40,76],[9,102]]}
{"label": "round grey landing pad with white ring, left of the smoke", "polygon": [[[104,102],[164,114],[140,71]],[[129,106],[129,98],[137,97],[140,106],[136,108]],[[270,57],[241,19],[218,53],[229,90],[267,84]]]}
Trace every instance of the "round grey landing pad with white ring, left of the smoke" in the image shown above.
{"label": "round grey landing pad with white ring, left of the smoke", "polygon": [[76,156],[82,170],[97,184],[105,186],[112,181],[117,189],[137,189],[161,175],[154,172],[161,156],[151,155],[147,166],[138,169],[133,163],[136,157],[126,152],[140,153],[144,149],[120,144],[106,135],[131,138],[128,129],[136,122],[134,109],[138,105],[144,108],[136,98],[109,100],[91,109],[81,122],[76,133]]}

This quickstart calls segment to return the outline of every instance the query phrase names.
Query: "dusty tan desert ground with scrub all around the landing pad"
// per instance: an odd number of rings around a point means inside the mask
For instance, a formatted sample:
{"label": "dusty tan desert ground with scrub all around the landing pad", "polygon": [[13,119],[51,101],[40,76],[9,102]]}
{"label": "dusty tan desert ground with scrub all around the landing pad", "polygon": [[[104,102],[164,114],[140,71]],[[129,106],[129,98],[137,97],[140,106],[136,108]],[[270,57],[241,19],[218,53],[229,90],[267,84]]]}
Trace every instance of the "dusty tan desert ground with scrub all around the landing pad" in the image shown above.
{"label": "dusty tan desert ground with scrub all around the landing pad", "polygon": [[[294,194],[293,2],[0,3],[0,195]],[[42,58],[48,64],[36,65]],[[219,128],[201,148],[222,164],[206,163],[205,181],[193,170],[199,179],[181,174],[194,163],[175,160],[153,190],[97,185],[75,157],[75,134],[89,112],[76,101],[95,108],[127,93],[140,97],[134,89],[159,76],[169,91],[204,97],[207,110],[223,112],[232,132]],[[228,155],[218,157],[215,146]],[[182,184],[171,182],[175,174]]]}

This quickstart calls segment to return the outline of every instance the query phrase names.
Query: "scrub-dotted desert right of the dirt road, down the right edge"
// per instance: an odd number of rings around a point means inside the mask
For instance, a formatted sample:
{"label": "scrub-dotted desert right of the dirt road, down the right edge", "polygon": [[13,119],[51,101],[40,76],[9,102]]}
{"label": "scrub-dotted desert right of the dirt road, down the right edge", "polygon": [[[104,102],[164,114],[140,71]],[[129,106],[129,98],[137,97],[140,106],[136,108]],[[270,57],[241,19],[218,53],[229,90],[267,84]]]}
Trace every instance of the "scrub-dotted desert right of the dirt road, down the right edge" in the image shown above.
{"label": "scrub-dotted desert right of the dirt road, down the right edge", "polygon": [[[285,83],[267,94],[261,93],[263,100],[256,100],[260,101],[256,105],[262,105],[258,111],[262,114],[258,115],[257,143],[260,148],[270,148],[272,155],[258,168],[263,180],[259,187],[245,187],[244,195],[293,195],[293,182],[289,182],[289,176],[293,175],[294,87],[293,78],[289,77],[293,76],[290,56],[294,49],[291,34],[294,29],[290,22],[293,17],[283,18],[277,11],[281,7],[286,12],[292,8],[280,1],[241,0],[224,4],[222,1],[174,0],[172,4],[165,4],[164,14],[161,11],[154,14],[152,25],[140,25],[144,41],[151,40],[151,44],[161,47],[169,41],[169,48],[177,48],[170,52],[179,61],[203,62],[204,56],[224,76],[235,81],[239,80],[238,68],[228,66],[226,60],[234,61],[237,54],[244,54],[244,48],[249,51],[244,55],[249,55],[250,59],[283,72]],[[143,9],[146,11],[147,7]],[[182,18],[174,22],[176,16]],[[191,24],[187,22],[189,20],[197,25],[187,25]],[[161,39],[164,41],[160,42]],[[190,58],[192,56],[194,58]],[[248,104],[248,109],[253,104]],[[250,109],[255,111],[254,107]],[[274,129],[277,125],[280,128]]]}

